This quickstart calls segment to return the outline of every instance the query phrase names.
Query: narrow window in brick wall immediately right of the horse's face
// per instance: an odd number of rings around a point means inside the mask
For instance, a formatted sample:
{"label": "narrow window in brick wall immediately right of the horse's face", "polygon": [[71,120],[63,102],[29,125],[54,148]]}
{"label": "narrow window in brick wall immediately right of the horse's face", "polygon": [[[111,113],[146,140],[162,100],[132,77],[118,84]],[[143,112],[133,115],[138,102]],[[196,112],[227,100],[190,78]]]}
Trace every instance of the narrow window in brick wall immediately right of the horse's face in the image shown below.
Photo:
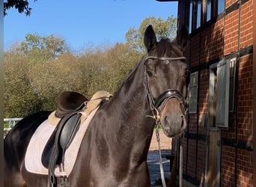
{"label": "narrow window in brick wall immediately right of the horse's face", "polygon": [[198,72],[191,73],[189,82],[189,114],[197,112],[198,103]]}

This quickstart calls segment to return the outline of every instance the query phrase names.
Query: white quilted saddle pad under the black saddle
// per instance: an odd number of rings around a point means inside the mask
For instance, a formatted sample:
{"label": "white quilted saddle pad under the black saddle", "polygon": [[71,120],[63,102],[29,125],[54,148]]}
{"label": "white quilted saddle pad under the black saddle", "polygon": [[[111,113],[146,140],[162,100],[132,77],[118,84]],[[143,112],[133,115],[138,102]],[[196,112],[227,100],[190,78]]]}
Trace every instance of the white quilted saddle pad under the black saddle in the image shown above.
{"label": "white quilted saddle pad under the black saddle", "polygon": [[[97,109],[91,111],[84,123],[80,125],[79,131],[76,133],[75,138],[73,138],[70,147],[67,148],[65,153],[64,165],[65,165],[65,174],[67,177],[70,175],[73,166],[76,162],[76,157],[79,152],[79,147],[82,142],[82,138],[85,135],[86,129],[91,122],[91,119],[94,117]],[[25,168],[27,171],[34,174],[44,174],[48,175],[48,169],[45,168],[41,162],[41,156],[43,149],[46,146],[49,137],[52,135],[56,126],[53,126],[49,123],[48,120],[45,120],[34,132],[34,135],[31,137],[31,141],[28,144],[28,148],[25,153]],[[55,176],[61,176],[61,173],[58,168],[55,169]]]}

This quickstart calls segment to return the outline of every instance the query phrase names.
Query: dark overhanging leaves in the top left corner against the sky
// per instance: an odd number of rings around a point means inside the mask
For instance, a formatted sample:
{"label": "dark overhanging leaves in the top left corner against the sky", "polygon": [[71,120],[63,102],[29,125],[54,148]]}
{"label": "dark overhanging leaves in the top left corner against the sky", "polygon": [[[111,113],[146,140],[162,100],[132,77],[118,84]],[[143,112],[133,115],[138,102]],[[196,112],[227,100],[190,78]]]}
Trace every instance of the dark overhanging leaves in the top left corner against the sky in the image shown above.
{"label": "dark overhanging leaves in the top left corner against the sky", "polygon": [[[34,0],[37,1],[37,0]],[[4,1],[4,16],[7,15],[7,10],[14,7],[19,13],[25,13],[26,16],[30,16],[32,8],[29,7],[29,3],[26,0],[7,0]]]}

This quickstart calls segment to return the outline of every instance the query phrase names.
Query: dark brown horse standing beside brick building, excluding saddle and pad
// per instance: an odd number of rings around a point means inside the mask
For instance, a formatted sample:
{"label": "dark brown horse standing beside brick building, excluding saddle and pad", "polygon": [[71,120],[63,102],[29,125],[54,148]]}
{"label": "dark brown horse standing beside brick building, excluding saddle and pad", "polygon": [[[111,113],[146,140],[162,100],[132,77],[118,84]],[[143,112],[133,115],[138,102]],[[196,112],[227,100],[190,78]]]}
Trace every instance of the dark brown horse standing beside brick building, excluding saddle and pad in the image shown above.
{"label": "dark brown horse standing beside brick building, excluding saddle and pad", "polygon": [[[147,54],[88,125],[68,176],[70,186],[150,186],[147,152],[156,121],[170,138],[186,128],[187,35],[182,27],[174,41],[157,42],[152,26],[147,27]],[[33,133],[49,114],[25,117],[7,134],[4,186],[47,186],[47,175],[26,171],[24,160]]]}

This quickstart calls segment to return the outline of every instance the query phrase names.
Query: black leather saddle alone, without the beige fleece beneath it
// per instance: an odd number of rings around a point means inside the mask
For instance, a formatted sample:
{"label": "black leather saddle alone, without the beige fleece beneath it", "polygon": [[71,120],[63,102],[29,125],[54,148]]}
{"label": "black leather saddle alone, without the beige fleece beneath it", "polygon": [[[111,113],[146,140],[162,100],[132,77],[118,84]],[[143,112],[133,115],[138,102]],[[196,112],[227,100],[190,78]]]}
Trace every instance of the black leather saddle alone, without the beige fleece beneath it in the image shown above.
{"label": "black leather saddle alone, without the beige fleece beneath it", "polygon": [[46,143],[42,154],[42,164],[48,168],[50,183],[55,183],[55,166],[64,163],[65,150],[70,146],[79,130],[82,115],[79,114],[79,111],[85,108],[87,101],[85,96],[73,91],[64,91],[58,96],[58,108],[55,111],[55,117],[61,120]]}

